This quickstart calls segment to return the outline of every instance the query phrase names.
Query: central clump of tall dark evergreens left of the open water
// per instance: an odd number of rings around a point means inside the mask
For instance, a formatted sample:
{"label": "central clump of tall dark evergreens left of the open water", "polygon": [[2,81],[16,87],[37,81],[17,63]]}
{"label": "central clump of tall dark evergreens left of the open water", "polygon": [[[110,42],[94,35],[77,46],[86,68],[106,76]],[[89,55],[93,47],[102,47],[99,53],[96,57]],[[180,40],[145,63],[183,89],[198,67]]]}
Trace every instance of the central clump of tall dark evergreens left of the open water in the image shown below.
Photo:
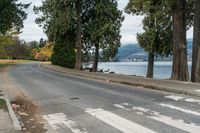
{"label": "central clump of tall dark evergreens left of the open water", "polygon": [[93,52],[96,72],[99,51],[107,61],[118,52],[124,18],[117,0],[46,0],[34,11],[42,14],[36,23],[55,43],[53,64],[81,70],[82,60]]}

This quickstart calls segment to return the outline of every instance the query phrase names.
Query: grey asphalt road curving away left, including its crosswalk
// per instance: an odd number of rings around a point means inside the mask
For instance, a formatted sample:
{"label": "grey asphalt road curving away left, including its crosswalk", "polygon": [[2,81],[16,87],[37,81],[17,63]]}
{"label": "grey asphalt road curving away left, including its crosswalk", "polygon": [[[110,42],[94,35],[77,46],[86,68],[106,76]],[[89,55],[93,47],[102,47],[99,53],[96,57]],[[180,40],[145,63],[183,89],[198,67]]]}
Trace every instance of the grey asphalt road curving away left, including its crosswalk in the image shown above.
{"label": "grey asphalt road curving away left, including its crosswalk", "polygon": [[59,133],[199,133],[200,100],[65,75],[38,63],[10,71]]}

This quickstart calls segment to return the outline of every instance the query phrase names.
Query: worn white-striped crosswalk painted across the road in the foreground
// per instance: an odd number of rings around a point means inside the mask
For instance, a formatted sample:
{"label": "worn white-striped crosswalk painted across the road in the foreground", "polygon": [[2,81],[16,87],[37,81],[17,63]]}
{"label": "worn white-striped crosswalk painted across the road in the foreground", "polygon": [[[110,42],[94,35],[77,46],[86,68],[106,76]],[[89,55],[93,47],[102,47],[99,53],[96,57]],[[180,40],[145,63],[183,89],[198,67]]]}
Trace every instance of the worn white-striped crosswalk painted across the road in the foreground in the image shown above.
{"label": "worn white-striped crosswalk painted across the road in the foreground", "polygon": [[[168,95],[164,96],[162,102],[155,102],[154,106],[138,106],[133,103],[115,103],[112,108],[85,108],[84,113],[101,121],[102,123],[119,130],[122,133],[200,133],[200,110],[188,109],[185,106],[173,105],[179,102],[187,104],[200,105],[200,100],[183,96]],[[172,100],[173,102],[167,101]],[[165,102],[166,101],[166,102]],[[158,110],[160,109],[160,110]],[[163,110],[165,110],[163,112]],[[124,117],[123,112],[127,115]],[[170,113],[166,113],[170,112]],[[178,116],[181,114],[181,117]],[[145,119],[146,122],[138,122],[138,120],[129,118],[128,116],[136,116]],[[175,115],[177,115],[175,117]],[[186,116],[188,119],[182,117]],[[193,120],[195,118],[195,120]],[[83,127],[80,122],[77,123],[72,117],[64,113],[56,113],[45,115],[44,119],[57,131],[65,126],[71,133],[90,133],[90,128]],[[148,122],[148,125],[145,124]],[[167,130],[160,129],[159,126],[151,126],[159,124]],[[94,131],[94,130],[93,130]],[[92,132],[91,132],[92,133]]]}

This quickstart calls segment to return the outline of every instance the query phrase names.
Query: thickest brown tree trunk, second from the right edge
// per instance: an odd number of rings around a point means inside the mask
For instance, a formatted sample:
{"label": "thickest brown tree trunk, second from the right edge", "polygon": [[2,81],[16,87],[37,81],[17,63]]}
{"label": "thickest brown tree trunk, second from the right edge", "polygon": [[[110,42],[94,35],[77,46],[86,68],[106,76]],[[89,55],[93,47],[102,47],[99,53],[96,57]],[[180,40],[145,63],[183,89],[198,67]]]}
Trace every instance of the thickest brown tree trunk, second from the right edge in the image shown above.
{"label": "thickest brown tree trunk, second from the right edge", "polygon": [[172,79],[188,81],[185,0],[176,0],[173,9],[173,66]]}

